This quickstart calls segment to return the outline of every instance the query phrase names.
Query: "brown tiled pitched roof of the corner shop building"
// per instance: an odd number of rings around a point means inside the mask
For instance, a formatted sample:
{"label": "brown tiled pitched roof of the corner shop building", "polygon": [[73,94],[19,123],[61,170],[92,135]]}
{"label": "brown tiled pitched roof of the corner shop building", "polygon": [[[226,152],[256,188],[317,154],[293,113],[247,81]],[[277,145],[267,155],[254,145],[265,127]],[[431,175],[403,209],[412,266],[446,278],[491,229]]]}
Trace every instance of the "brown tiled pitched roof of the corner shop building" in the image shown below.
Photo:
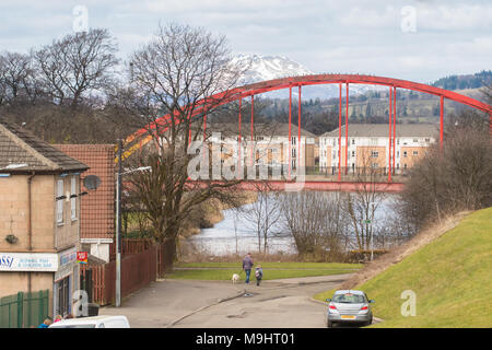
{"label": "brown tiled pitched roof of the corner shop building", "polygon": [[20,126],[0,121],[0,171],[3,173],[62,173],[89,166],[36,138]]}

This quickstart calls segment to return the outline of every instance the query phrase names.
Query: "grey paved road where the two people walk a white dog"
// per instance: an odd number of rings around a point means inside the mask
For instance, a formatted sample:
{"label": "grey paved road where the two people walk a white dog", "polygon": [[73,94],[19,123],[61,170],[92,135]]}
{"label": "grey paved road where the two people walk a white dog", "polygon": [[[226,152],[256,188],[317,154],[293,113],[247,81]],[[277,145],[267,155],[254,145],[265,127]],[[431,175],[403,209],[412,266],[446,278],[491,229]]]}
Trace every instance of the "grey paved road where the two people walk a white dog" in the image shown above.
{"label": "grey paved road where the two people walk a white dog", "polygon": [[[160,280],[101,315],[126,315],[132,327],[318,328],[326,306],[312,300],[350,275],[263,281],[260,287],[225,281]],[[247,293],[247,296],[245,296]]]}

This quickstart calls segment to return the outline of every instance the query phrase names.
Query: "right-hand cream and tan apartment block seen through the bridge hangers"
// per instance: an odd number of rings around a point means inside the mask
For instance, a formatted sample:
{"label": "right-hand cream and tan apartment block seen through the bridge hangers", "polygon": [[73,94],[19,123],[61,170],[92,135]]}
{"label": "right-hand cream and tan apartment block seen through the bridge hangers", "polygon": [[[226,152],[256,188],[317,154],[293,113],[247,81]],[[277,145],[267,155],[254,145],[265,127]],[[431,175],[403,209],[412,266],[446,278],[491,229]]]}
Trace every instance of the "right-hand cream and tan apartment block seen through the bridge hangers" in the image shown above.
{"label": "right-hand cream and tan apartment block seen through the bridge hangers", "polygon": [[[427,148],[436,141],[437,135],[438,126],[432,124],[396,125],[395,172],[401,173],[401,171],[412,167],[425,154]],[[345,126],[341,128],[340,144],[339,129],[319,137],[320,171],[338,168],[339,164],[344,167],[347,148],[349,171],[360,167],[389,168],[388,125],[349,124],[348,140],[349,144],[345,144]]]}

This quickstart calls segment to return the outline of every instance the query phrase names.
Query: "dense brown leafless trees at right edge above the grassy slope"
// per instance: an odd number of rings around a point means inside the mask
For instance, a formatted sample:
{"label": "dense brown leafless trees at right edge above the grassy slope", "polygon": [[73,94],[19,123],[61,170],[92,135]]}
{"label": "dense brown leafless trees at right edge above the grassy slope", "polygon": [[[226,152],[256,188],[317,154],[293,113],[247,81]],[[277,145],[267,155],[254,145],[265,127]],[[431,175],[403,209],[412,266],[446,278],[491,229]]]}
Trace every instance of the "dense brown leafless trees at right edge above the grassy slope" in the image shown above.
{"label": "dense brown leafless trees at right edge above the grassy slope", "polygon": [[491,206],[491,188],[492,143],[488,127],[484,122],[458,122],[448,126],[443,150],[433,145],[411,170],[403,207],[409,219],[421,226],[460,210]]}

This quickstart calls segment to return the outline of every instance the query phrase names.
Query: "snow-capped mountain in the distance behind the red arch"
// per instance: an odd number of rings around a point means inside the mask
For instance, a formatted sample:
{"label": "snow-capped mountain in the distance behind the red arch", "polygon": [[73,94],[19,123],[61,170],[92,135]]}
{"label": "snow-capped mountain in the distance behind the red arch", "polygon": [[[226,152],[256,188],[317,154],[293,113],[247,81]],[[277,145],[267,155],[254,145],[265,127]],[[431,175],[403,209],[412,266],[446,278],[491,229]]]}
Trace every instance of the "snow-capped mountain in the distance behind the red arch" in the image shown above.
{"label": "snow-capped mountain in the distance behind the red arch", "polygon": [[[232,59],[232,63],[237,65],[242,69],[246,69],[243,77],[239,79],[238,85],[246,85],[265,80],[272,80],[279,78],[317,74],[301,63],[297,63],[284,56],[261,56],[261,55],[237,55]],[[362,84],[350,84],[349,94],[358,95],[364,94],[371,89],[380,90],[378,86],[368,86]],[[293,91],[293,93],[296,90]],[[263,94],[271,98],[288,98],[289,92],[280,90]],[[345,88],[343,86],[342,95],[345,95]],[[339,88],[336,84],[304,86],[302,90],[303,98],[331,98],[339,96]]]}

